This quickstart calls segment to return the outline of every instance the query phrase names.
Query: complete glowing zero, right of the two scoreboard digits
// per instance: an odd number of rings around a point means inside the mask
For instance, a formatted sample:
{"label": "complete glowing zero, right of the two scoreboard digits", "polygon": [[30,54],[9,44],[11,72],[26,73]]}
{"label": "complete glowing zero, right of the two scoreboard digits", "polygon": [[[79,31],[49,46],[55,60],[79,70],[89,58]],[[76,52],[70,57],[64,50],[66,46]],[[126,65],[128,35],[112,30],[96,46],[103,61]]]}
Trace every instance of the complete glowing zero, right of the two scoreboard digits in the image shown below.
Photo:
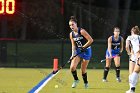
{"label": "complete glowing zero, right of the two scoreboard digits", "polygon": [[6,13],[13,14],[15,12],[15,0],[6,0]]}

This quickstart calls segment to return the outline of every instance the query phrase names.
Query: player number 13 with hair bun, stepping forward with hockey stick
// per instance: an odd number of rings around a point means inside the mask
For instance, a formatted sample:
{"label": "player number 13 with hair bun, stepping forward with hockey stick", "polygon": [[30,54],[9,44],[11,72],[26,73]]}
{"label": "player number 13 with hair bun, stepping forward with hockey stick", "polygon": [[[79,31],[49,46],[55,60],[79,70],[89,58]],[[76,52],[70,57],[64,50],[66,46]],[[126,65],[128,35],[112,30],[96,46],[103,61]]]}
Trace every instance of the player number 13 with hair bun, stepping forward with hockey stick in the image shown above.
{"label": "player number 13 with hair bun, stepping forward with hockey stick", "polygon": [[88,81],[87,81],[87,66],[89,63],[89,60],[91,58],[91,44],[93,42],[92,37],[82,28],[77,27],[77,20],[74,16],[71,16],[69,20],[69,26],[72,30],[70,33],[70,40],[72,44],[72,56],[79,54],[76,56],[70,65],[70,70],[72,72],[74,82],[72,84],[72,88],[75,88],[79,82],[76,67],[80,60],[81,62],[81,71],[82,71],[82,77],[84,81],[85,88],[88,87]]}

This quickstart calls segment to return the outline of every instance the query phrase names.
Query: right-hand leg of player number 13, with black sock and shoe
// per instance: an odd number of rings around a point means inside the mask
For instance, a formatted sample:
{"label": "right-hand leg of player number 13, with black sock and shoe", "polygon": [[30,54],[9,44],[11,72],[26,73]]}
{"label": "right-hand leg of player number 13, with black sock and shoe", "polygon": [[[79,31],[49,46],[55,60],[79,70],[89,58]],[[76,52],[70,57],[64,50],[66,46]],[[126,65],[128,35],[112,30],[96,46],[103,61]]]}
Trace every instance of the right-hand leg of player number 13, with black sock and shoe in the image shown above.
{"label": "right-hand leg of player number 13, with black sock and shoe", "polygon": [[83,59],[81,63],[81,71],[82,71],[82,77],[85,84],[85,88],[88,87],[87,71],[86,71],[88,63],[89,63],[89,60],[85,60],[85,59]]}

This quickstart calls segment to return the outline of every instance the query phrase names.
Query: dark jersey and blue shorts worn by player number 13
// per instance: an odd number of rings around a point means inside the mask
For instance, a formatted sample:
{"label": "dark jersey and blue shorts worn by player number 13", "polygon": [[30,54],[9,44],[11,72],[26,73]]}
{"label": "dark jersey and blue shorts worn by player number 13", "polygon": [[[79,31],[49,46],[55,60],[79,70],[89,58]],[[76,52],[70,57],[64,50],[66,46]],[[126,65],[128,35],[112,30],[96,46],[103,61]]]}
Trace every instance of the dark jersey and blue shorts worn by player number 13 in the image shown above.
{"label": "dark jersey and blue shorts worn by player number 13", "polygon": [[[76,35],[72,31],[72,38],[73,38],[75,45],[76,45],[76,54],[81,52],[80,47],[82,47],[87,42],[86,38],[83,35],[81,35],[80,31],[81,31],[81,28],[78,28],[78,34],[76,34]],[[91,47],[89,46],[85,49],[85,52],[80,53],[78,56],[85,59],[85,60],[90,60],[91,55],[92,55],[91,54]]]}

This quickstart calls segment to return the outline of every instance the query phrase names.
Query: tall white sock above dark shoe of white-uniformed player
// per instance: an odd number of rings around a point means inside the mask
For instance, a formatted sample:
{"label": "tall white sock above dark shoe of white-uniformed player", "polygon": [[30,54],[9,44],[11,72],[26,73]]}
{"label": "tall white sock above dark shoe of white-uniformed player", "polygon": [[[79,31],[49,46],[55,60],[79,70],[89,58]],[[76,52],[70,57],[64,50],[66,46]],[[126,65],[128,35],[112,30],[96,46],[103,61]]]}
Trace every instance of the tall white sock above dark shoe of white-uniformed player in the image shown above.
{"label": "tall white sock above dark shoe of white-uniformed player", "polygon": [[136,87],[136,84],[138,82],[138,78],[139,78],[139,75],[138,73],[136,72],[133,72],[130,76],[130,87]]}

